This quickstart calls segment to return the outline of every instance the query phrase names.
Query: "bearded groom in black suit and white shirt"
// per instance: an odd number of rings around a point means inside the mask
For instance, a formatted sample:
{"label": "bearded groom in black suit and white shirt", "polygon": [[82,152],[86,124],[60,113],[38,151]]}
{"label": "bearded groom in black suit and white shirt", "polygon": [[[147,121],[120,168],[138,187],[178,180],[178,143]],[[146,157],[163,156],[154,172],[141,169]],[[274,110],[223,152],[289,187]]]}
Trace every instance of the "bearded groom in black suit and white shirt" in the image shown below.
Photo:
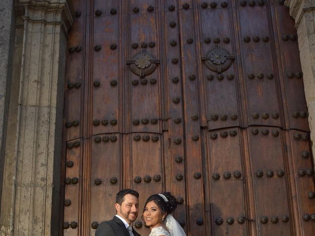
{"label": "bearded groom in black suit and white shirt", "polygon": [[140,236],[131,226],[139,213],[139,193],[123,189],[116,195],[117,214],[112,220],[99,224],[95,236]]}

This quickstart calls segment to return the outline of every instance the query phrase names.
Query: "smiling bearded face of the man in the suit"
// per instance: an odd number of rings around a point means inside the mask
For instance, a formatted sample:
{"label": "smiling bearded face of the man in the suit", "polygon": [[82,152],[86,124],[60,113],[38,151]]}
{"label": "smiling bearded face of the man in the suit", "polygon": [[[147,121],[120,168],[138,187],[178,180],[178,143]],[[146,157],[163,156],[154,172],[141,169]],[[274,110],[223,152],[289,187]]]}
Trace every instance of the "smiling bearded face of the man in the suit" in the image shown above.
{"label": "smiling bearded face of the man in the suit", "polygon": [[116,203],[117,214],[123,217],[129,224],[134,222],[139,213],[139,201],[137,197],[126,194],[122,205]]}

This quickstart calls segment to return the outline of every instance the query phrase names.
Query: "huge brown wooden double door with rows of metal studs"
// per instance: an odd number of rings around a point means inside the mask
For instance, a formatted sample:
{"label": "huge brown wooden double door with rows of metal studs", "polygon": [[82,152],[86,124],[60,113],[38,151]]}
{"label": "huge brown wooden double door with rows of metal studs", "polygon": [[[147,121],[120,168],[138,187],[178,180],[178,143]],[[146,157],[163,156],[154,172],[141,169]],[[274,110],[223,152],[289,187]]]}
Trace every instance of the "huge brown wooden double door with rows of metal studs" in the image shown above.
{"label": "huge brown wooden double door with rows of metal studs", "polygon": [[303,74],[283,1],[74,5],[63,235],[94,235],[122,188],[140,193],[140,212],[170,191],[189,236],[314,234]]}

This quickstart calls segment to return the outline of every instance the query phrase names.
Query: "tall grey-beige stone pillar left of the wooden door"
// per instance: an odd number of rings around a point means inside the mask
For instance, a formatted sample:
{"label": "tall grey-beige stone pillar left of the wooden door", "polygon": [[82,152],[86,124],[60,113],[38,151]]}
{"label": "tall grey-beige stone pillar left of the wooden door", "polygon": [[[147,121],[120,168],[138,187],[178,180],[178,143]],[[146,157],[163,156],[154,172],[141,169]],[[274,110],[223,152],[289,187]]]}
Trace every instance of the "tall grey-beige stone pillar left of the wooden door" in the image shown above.
{"label": "tall grey-beige stone pillar left of the wooden door", "polygon": [[15,153],[5,156],[3,175],[12,178],[3,185],[11,184],[11,198],[2,197],[1,212],[10,209],[1,214],[0,235],[57,236],[66,38],[74,10],[71,0],[19,1],[25,13]]}

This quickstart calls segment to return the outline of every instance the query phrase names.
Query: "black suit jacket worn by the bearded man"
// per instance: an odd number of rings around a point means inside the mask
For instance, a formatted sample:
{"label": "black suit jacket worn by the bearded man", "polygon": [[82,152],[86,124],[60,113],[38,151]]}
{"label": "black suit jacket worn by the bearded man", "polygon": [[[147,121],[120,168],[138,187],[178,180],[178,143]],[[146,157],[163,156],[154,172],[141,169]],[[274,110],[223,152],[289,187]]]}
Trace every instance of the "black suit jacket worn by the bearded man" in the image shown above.
{"label": "black suit jacket worn by the bearded man", "polygon": [[[132,229],[133,236],[140,236]],[[100,223],[95,232],[95,236],[129,236],[126,226],[121,219],[114,216],[112,220]]]}

